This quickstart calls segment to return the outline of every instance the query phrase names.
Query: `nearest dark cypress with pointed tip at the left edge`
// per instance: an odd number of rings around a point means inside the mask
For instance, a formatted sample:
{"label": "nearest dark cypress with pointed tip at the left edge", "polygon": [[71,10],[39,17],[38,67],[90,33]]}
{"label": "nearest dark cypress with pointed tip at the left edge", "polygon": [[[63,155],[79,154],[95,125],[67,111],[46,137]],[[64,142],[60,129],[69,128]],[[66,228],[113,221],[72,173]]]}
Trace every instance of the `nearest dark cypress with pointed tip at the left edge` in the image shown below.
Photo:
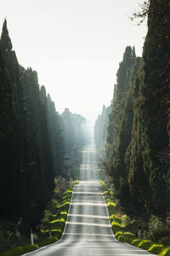
{"label": "nearest dark cypress with pointed tip at the left edge", "polygon": [[[22,175],[21,170],[23,167],[22,161],[22,134],[20,129],[20,106],[19,106],[19,95],[20,95],[20,72],[19,65],[16,59],[15,53],[12,50],[11,40],[8,36],[7,21],[4,20],[3,32],[0,40],[1,48],[1,76],[6,78],[2,80],[1,87],[4,86],[6,90],[8,88],[8,105],[3,105],[3,112],[6,111],[6,118],[8,119],[8,125],[3,126],[6,129],[6,137],[3,140],[2,145],[6,148],[1,154],[2,157],[2,175],[1,179],[2,188],[5,185],[8,188],[8,195],[4,195],[2,191],[2,214],[17,217],[20,214],[22,206]],[[10,89],[10,90],[9,90]],[[3,93],[3,90],[1,90]],[[7,100],[6,96],[4,99]],[[3,101],[2,101],[3,104]],[[6,109],[4,108],[6,106]],[[10,112],[9,112],[10,109]],[[6,124],[7,125],[7,124]],[[8,134],[8,135],[7,135]],[[7,151],[8,148],[8,151]],[[17,198],[17,201],[16,201]]]}

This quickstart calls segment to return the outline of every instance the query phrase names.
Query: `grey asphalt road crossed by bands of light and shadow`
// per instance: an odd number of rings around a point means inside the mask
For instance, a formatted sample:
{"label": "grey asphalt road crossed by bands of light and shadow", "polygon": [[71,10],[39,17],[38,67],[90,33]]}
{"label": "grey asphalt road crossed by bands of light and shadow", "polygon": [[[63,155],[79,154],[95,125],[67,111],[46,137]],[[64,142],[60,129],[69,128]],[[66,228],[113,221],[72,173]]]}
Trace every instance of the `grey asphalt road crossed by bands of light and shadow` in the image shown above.
{"label": "grey asphalt road crossed by bands of light and shadow", "polygon": [[65,232],[60,241],[30,256],[130,256],[148,252],[116,241],[111,230],[93,146],[82,152],[80,183],[73,190]]}

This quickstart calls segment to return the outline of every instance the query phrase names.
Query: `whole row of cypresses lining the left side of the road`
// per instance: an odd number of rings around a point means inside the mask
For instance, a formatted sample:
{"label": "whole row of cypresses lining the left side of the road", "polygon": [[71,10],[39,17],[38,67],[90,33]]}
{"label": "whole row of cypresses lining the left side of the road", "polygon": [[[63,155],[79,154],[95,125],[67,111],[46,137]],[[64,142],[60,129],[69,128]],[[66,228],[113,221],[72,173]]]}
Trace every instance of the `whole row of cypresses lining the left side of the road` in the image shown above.
{"label": "whole row of cypresses lining the left side of the road", "polygon": [[[54,191],[54,177],[76,178],[85,145],[81,115],[61,115],[37,72],[20,66],[4,20],[0,38],[0,218],[36,228]],[[78,155],[78,157],[77,157]]]}

